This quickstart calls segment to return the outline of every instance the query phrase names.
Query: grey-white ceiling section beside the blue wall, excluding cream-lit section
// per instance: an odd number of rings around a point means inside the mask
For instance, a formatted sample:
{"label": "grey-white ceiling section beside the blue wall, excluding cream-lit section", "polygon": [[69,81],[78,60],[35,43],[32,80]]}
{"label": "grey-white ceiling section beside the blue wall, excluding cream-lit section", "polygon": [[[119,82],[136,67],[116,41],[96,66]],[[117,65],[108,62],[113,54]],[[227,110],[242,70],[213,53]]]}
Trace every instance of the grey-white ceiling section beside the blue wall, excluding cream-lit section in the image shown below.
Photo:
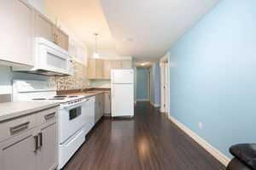
{"label": "grey-white ceiling section beside the blue wall, excluding cream-lit section", "polygon": [[[101,0],[117,50],[150,60],[163,56],[218,0]],[[132,38],[134,41],[123,41]]]}

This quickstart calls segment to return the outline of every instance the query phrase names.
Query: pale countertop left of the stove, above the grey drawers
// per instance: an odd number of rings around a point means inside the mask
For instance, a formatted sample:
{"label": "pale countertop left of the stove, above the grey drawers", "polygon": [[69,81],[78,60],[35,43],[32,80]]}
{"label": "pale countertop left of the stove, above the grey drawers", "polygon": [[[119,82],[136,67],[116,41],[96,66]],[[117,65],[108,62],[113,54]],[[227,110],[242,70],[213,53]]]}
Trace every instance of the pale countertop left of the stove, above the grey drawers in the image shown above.
{"label": "pale countertop left of the stove, above the grey drawers", "polygon": [[8,102],[0,103],[0,122],[18,116],[57,107],[57,102]]}

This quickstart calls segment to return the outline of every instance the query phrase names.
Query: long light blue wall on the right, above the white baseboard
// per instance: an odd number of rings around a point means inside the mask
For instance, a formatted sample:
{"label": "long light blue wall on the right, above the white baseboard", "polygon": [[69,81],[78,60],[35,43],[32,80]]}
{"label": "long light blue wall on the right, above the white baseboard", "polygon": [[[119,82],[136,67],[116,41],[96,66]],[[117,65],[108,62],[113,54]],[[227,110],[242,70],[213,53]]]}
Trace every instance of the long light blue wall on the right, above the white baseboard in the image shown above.
{"label": "long light blue wall on the right, above the white baseboard", "polygon": [[220,1],[169,52],[170,114],[229,157],[255,143],[256,1]]}

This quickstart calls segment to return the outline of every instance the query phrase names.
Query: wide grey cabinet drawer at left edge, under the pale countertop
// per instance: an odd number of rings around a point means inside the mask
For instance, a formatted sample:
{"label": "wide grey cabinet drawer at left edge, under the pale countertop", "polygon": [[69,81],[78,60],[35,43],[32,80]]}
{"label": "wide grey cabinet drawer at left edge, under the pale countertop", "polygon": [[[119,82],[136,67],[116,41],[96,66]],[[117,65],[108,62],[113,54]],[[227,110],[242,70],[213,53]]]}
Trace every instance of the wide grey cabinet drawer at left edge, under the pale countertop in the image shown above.
{"label": "wide grey cabinet drawer at left edge, under the pale countertop", "polygon": [[0,123],[0,142],[9,137],[26,132],[35,126],[36,114],[30,114]]}

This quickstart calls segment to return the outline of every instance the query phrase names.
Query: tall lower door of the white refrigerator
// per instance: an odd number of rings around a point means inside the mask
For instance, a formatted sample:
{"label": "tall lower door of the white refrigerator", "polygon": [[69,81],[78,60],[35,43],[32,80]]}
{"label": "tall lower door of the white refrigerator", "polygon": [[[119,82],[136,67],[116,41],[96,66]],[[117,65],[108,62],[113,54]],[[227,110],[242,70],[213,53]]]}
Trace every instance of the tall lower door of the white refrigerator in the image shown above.
{"label": "tall lower door of the white refrigerator", "polygon": [[133,84],[112,84],[112,116],[134,116]]}

